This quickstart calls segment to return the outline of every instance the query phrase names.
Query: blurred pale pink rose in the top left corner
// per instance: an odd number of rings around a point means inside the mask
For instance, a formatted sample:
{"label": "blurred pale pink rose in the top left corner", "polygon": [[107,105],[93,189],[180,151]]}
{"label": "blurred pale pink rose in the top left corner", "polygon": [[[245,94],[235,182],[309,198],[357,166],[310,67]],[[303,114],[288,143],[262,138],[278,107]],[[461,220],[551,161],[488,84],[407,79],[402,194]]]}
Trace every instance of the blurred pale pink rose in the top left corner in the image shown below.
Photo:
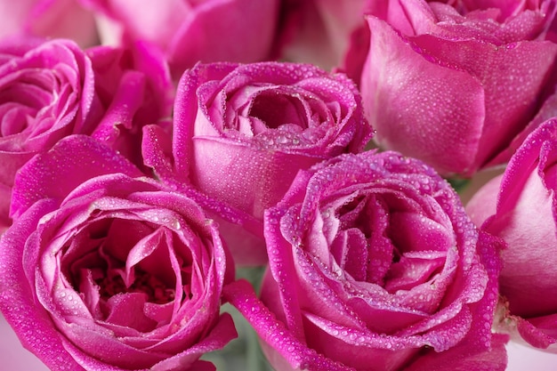
{"label": "blurred pale pink rose in the top left corner", "polygon": [[83,47],[98,44],[93,13],[77,0],[0,1],[0,38],[18,35],[71,38]]}

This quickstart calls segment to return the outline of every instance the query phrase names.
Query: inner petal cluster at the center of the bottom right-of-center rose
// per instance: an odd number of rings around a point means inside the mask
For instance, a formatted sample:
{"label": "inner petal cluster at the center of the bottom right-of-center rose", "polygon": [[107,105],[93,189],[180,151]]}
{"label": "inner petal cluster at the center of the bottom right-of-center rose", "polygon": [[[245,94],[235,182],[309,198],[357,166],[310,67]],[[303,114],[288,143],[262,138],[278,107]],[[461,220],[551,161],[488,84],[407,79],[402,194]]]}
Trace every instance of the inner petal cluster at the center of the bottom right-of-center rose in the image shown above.
{"label": "inner petal cluster at the center of the bottom right-of-center rose", "polygon": [[388,192],[351,198],[336,217],[342,230],[331,247],[336,262],[352,278],[392,293],[436,277],[455,244],[450,230]]}

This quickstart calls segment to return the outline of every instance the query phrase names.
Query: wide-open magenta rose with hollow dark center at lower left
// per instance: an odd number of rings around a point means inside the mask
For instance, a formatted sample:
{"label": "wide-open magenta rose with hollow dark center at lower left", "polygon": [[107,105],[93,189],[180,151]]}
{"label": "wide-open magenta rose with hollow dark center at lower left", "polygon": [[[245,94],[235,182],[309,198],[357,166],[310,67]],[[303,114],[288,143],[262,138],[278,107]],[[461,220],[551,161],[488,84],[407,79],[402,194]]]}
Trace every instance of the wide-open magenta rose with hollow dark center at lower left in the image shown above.
{"label": "wide-open magenta rose with hollow dark center at lower left", "polygon": [[56,370],[211,370],[236,336],[214,222],[88,136],[21,168],[0,239],[0,310]]}

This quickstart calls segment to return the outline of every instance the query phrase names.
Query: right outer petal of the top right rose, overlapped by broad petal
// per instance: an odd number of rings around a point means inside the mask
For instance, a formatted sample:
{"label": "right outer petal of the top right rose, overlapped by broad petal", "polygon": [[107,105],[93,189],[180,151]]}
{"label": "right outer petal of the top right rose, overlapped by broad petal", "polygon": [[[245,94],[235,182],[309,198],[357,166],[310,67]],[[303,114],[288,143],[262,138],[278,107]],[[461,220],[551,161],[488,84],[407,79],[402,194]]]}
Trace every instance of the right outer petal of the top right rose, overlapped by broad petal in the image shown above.
{"label": "right outer petal of the top right rose, overlapped by broad petal", "polygon": [[[425,52],[466,71],[483,86],[486,113],[475,160],[480,165],[505,148],[534,117],[538,109],[535,98],[543,92],[557,55],[557,45],[543,41],[494,48],[475,40],[456,43],[431,36],[413,40]],[[486,69],[485,60],[489,60],[492,69]]]}

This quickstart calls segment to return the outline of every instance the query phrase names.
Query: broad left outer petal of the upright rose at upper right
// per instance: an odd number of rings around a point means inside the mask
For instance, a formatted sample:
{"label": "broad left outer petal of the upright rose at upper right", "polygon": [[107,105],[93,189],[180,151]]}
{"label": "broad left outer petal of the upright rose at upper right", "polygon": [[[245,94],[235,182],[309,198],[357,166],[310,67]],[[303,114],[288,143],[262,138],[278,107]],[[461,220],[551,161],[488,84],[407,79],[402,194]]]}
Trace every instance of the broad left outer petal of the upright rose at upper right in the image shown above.
{"label": "broad left outer petal of the upright rose at upper right", "polygon": [[439,65],[383,20],[367,23],[373,32],[361,91],[376,140],[443,173],[471,171],[486,115],[478,80]]}

